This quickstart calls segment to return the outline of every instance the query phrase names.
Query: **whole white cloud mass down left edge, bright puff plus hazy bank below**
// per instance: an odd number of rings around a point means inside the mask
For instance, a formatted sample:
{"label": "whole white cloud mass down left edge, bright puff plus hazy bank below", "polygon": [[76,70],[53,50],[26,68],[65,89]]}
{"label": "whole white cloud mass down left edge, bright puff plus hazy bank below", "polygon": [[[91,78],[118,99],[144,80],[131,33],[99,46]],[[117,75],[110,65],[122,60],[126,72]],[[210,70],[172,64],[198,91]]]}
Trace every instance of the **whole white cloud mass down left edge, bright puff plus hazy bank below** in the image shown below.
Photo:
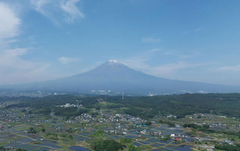
{"label": "whole white cloud mass down left edge, bright puff plus hazy bank below", "polygon": [[19,12],[15,10],[12,5],[0,2],[0,85],[53,79],[47,63],[23,59],[32,48],[12,46],[22,33]]}

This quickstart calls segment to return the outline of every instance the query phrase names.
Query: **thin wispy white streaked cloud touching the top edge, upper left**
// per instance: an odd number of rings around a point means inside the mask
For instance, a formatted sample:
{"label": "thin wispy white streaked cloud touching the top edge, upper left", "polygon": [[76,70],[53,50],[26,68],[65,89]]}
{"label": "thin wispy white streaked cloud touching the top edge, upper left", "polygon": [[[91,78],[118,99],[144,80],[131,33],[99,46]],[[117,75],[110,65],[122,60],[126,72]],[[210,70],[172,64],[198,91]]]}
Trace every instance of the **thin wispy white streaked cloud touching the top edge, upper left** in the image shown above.
{"label": "thin wispy white streaked cloud touching the top edge, upper left", "polygon": [[[59,19],[68,24],[84,18],[84,14],[77,7],[79,0],[31,0],[33,8],[45,17],[58,24]],[[58,13],[58,15],[56,15]],[[59,14],[61,14],[59,16]]]}

